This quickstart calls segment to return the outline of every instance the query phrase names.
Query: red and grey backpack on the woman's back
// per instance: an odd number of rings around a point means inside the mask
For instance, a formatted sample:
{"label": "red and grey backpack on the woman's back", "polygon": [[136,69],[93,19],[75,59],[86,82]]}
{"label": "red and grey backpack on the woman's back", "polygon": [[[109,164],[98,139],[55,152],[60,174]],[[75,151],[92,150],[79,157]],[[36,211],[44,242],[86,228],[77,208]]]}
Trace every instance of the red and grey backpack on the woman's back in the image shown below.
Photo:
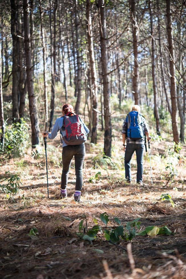
{"label": "red and grey backpack on the woman's back", "polygon": [[71,113],[65,114],[64,124],[60,129],[60,133],[67,145],[79,145],[87,140],[87,134],[80,117],[77,114],[69,116]]}

